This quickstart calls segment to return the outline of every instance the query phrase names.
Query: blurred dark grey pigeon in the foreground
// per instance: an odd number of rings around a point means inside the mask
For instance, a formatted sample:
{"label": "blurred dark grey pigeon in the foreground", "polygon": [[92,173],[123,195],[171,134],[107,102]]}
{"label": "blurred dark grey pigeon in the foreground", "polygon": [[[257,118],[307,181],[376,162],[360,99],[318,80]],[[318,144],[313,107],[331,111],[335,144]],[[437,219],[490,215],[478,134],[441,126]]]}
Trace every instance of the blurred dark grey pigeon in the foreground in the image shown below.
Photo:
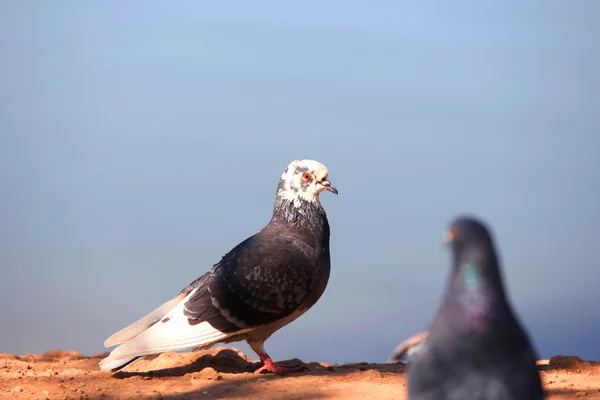
{"label": "blurred dark grey pigeon in the foreground", "polygon": [[408,398],[543,399],[537,354],[505,292],[488,228],[456,218],[452,272],[427,339],[408,368]]}

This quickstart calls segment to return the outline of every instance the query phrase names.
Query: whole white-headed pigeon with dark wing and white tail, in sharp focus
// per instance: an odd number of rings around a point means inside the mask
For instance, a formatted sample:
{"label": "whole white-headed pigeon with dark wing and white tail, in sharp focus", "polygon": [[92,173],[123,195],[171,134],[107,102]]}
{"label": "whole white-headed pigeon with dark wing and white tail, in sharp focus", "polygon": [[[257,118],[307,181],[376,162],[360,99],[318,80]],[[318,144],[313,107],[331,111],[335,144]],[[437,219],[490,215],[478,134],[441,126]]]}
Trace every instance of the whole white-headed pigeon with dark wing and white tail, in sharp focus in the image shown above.
{"label": "whole white-headed pigeon with dark wing and white tail, in sharp focus", "polygon": [[175,298],[109,337],[105,347],[119,346],[100,368],[114,371],[144,356],[245,340],[262,362],[256,373],[306,369],[276,365],[264,342],[325,291],[330,230],[319,194],[326,190],[338,194],[323,164],[290,163],[279,180],[269,223]]}

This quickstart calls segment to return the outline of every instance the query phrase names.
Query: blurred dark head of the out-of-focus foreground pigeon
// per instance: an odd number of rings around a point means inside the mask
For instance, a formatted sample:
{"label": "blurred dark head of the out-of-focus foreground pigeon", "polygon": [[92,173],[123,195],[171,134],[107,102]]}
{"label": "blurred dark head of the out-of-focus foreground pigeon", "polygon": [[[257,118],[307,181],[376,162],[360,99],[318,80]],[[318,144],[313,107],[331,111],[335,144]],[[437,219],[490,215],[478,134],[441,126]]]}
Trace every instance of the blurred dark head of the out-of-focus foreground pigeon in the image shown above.
{"label": "blurred dark head of the out-of-focus foreground pigeon", "polygon": [[491,257],[495,257],[490,231],[483,222],[473,217],[454,219],[444,233],[444,242],[452,249],[459,264],[471,262],[483,267],[489,265]]}

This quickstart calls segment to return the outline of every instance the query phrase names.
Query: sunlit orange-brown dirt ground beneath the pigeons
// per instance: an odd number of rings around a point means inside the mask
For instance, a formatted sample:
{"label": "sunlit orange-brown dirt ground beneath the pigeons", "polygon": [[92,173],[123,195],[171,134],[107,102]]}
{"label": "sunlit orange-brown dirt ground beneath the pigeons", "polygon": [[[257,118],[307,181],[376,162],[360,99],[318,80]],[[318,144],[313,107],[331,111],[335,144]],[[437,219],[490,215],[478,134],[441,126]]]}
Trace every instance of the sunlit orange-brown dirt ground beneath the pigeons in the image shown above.
{"label": "sunlit orange-brown dirt ground beneath the pigeons", "polygon": [[[403,364],[328,365],[288,360],[307,372],[252,373],[257,364],[231,348],[164,353],[118,373],[100,371],[104,356],[58,350],[0,353],[0,399],[405,399]],[[548,399],[600,399],[600,363],[556,356],[540,361]]]}

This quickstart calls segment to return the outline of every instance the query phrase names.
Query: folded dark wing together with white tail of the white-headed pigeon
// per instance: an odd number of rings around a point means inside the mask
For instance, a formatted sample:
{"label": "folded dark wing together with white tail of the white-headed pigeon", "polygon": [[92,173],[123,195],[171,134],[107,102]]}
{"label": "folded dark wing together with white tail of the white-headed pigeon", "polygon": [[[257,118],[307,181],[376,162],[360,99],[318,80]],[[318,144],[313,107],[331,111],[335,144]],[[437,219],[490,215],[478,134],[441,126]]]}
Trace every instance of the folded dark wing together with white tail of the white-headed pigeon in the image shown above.
{"label": "folded dark wing together with white tail of the white-headed pigeon", "polygon": [[209,347],[290,315],[306,305],[319,283],[316,259],[314,250],[296,237],[257,234],[246,239],[173,303],[111,337],[109,343],[130,339],[102,360],[101,368],[120,368],[136,357],[165,351]]}

